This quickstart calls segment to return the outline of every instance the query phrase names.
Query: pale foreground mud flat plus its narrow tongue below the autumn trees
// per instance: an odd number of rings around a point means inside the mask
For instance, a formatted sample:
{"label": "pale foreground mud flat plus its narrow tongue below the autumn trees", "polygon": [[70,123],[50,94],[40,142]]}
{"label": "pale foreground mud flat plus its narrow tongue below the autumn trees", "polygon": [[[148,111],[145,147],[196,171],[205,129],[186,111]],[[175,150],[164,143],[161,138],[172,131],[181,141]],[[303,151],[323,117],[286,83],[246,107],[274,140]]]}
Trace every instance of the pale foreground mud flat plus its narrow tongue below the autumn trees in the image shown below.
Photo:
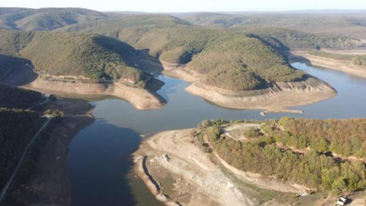
{"label": "pale foreground mud flat plus its narrow tongue below the autumn trees", "polygon": [[[285,184],[259,174],[239,172],[229,165],[221,164],[223,160],[205,153],[193,143],[193,131],[183,129],[154,134],[143,141],[134,153],[135,172],[153,194],[169,197],[165,203],[175,202],[184,206],[260,205],[260,192],[254,190],[253,186],[247,186],[247,183],[280,192],[303,190],[298,185]],[[146,160],[145,165],[143,159]],[[235,180],[229,173],[235,175]],[[163,181],[168,177],[173,180],[164,184]],[[172,187],[170,190],[166,189],[169,185]]]}

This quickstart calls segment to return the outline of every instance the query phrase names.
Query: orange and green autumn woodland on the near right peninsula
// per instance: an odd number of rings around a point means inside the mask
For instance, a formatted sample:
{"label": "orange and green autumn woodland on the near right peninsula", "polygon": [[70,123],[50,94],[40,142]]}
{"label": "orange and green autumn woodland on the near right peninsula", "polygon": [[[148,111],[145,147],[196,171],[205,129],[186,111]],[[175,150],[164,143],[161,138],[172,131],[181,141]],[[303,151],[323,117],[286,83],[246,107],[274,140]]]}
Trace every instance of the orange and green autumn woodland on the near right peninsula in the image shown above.
{"label": "orange and green autumn woodland on the near right peninsula", "polygon": [[235,168],[334,195],[366,189],[364,160],[347,159],[349,155],[366,157],[365,119],[269,120],[244,141],[222,135],[215,123],[206,122],[199,127],[206,126],[202,131],[212,150]]}

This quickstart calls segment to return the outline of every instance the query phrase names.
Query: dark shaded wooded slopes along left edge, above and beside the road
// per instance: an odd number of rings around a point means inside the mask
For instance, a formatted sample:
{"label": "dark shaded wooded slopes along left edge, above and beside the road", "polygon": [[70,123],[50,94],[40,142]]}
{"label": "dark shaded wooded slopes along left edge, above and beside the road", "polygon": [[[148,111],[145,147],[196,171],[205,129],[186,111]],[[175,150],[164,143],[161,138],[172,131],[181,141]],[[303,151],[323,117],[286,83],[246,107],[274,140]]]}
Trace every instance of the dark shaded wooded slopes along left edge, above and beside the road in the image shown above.
{"label": "dark shaded wooded slopes along left edge, above and beside the road", "polygon": [[40,92],[0,84],[0,188],[4,187],[24,148],[44,122],[35,111],[24,109],[42,100]]}

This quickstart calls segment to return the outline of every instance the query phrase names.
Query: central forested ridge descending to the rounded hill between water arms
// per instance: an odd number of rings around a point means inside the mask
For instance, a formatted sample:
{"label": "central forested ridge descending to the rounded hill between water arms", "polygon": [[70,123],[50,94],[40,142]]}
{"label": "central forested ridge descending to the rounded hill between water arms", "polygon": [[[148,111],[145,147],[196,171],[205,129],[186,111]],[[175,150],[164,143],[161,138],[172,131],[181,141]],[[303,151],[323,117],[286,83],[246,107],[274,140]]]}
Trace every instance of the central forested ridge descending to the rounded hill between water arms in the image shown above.
{"label": "central forested ridge descending to the rounded hill between water arms", "polygon": [[258,38],[182,21],[176,23],[177,19],[172,16],[154,17],[161,18],[166,22],[164,25],[150,24],[149,18],[143,18],[145,15],[137,15],[138,19],[134,16],[114,23],[72,25],[67,30],[119,38],[137,49],[149,49],[150,55],[165,62],[188,63],[190,69],[206,74],[206,84],[233,91],[256,89],[275,81],[297,81],[303,77],[302,72],[288,64],[285,56]]}

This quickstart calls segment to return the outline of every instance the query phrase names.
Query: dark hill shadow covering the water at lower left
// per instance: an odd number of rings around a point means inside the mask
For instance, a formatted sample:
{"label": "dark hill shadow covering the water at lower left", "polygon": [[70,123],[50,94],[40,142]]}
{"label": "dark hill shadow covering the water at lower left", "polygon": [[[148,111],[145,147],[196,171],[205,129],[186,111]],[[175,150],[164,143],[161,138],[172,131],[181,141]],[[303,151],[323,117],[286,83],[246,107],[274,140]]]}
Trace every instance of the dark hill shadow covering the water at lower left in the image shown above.
{"label": "dark hill shadow covering the water at lower left", "polygon": [[131,128],[104,119],[83,129],[71,142],[68,174],[71,204],[77,206],[136,205],[128,174],[131,154],[141,139]]}

